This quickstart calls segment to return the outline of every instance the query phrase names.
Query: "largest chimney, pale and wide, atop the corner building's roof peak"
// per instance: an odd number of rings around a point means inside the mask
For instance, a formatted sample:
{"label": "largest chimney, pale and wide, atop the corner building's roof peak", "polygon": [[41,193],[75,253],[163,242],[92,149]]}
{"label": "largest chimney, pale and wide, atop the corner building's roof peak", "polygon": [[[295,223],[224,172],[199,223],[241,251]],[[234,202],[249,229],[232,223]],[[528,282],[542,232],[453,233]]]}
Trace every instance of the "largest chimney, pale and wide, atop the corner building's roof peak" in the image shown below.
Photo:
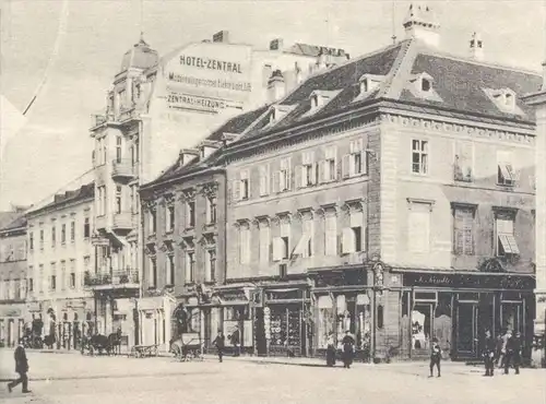
{"label": "largest chimney, pale and wide, atop the corner building's roof peak", "polygon": [[440,23],[428,5],[410,5],[403,25],[408,39],[416,39],[431,47],[440,45]]}

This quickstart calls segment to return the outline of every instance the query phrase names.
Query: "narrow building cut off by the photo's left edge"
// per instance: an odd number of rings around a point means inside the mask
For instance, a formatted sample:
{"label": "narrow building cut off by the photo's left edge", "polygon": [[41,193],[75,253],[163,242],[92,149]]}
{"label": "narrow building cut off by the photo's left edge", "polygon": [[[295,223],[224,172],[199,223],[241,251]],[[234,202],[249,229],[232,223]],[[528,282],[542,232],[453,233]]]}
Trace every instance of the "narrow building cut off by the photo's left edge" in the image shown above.
{"label": "narrow building cut off by the photo's left edge", "polygon": [[26,321],[26,219],[14,212],[0,222],[0,344],[15,346]]}

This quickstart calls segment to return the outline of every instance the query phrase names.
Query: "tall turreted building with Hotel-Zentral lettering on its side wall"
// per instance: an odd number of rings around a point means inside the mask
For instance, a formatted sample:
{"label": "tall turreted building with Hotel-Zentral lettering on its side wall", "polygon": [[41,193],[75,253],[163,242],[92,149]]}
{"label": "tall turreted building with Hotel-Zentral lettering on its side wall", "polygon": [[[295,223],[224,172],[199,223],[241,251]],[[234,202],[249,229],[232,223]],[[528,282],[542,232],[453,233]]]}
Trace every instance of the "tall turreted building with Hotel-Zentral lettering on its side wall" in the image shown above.
{"label": "tall turreted building with Hotel-Zentral lettering on its side wall", "polygon": [[[278,98],[312,69],[346,60],[343,50],[276,39],[265,50],[234,44],[228,33],[159,58],[142,38],[122,58],[106,110],[93,116],[95,140],[97,301],[122,320],[104,318],[105,333],[133,334],[145,240],[139,189],[157,178],[180,148],[195,147],[210,128]],[[215,141],[207,145],[216,147]],[[204,146],[204,145],[203,145]],[[114,282],[116,281],[116,282]],[[96,285],[97,286],[97,285]],[[131,337],[136,341],[138,335]]]}

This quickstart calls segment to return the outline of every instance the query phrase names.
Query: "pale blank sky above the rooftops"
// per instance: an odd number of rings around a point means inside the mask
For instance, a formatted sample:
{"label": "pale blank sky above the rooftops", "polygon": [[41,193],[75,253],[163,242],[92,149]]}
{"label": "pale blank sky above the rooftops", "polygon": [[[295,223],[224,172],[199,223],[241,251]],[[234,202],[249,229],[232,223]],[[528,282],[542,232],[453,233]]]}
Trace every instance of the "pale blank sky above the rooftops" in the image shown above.
{"label": "pale blank sky above the rooftops", "polygon": [[[104,109],[121,57],[141,29],[159,55],[227,29],[232,41],[266,47],[284,38],[285,45],[343,48],[354,58],[391,44],[393,26],[402,39],[410,3],[69,0],[62,25],[62,1],[0,0],[0,94],[23,111],[52,63],[23,128],[4,142],[0,210],[43,201],[91,168],[90,116]],[[546,58],[543,1],[425,3],[440,21],[442,50],[467,55],[471,35],[478,31],[487,61],[541,70]]]}

